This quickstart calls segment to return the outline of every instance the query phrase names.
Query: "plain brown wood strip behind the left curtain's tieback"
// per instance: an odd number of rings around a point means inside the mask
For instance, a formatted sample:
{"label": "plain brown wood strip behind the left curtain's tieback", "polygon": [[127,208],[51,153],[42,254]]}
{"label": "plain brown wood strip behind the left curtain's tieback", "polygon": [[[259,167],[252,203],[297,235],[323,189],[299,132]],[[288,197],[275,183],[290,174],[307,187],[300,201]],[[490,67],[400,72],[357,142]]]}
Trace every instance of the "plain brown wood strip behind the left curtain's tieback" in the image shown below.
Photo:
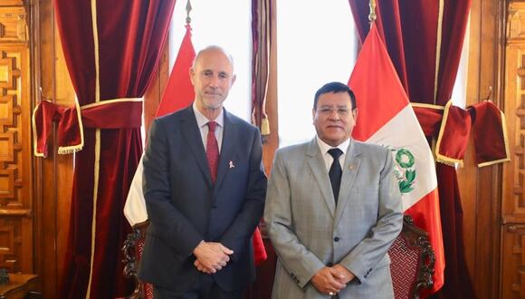
{"label": "plain brown wood strip behind the left curtain's tieback", "polygon": [[[72,106],[75,92],[63,57],[52,0],[34,1],[32,13],[33,91],[38,99]],[[35,169],[39,204],[35,262],[43,279],[44,298],[58,297],[70,227],[74,156],[57,154],[55,133],[53,130],[49,157],[38,158]]]}

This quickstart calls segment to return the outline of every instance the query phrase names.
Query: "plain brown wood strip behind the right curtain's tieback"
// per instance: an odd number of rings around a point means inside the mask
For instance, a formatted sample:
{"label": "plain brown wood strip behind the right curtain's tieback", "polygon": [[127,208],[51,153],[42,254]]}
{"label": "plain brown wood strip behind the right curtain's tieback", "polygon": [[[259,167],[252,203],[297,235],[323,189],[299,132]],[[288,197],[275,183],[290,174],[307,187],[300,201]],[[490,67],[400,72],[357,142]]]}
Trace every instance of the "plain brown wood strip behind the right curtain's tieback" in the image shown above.
{"label": "plain brown wood strip behind the right curtain's tieback", "polygon": [[[499,107],[502,96],[505,3],[472,1],[469,27],[469,60],[466,104],[483,101],[489,94]],[[491,92],[492,89],[492,92]],[[500,296],[501,165],[478,168],[473,139],[464,167],[458,169],[463,206],[465,259],[480,299]]]}

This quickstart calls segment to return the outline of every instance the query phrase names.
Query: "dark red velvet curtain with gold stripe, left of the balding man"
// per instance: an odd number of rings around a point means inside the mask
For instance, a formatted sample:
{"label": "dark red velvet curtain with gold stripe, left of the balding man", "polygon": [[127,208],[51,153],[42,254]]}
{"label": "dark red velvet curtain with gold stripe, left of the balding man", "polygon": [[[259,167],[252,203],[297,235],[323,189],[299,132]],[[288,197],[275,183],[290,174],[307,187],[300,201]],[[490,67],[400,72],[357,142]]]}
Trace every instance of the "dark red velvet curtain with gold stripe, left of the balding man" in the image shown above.
{"label": "dark red velvet curtain with gold stripe, left of the balding man", "polygon": [[[63,298],[114,298],[131,290],[132,282],[122,276],[120,247],[130,229],[122,209],[142,153],[142,103],[135,98],[146,92],[157,68],[175,2],[53,1],[68,70],[84,106]],[[88,112],[95,116],[88,119]]]}

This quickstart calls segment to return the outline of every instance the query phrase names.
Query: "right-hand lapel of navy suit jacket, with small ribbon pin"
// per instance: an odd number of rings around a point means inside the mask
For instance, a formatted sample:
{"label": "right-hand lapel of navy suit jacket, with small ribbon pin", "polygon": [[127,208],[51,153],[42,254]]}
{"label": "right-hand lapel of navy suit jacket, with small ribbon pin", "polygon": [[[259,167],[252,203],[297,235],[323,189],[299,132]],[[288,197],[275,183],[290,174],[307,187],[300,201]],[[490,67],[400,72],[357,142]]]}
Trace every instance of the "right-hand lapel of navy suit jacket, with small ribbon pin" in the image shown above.
{"label": "right-hand lapel of navy suit jacket, with small ribbon pin", "polygon": [[219,157],[219,165],[217,169],[217,178],[215,179],[214,198],[217,190],[220,189],[224,177],[229,169],[229,163],[234,161],[234,140],[238,138],[237,126],[229,118],[229,113],[224,110],[224,130],[223,130],[223,144],[221,145],[221,155]]}

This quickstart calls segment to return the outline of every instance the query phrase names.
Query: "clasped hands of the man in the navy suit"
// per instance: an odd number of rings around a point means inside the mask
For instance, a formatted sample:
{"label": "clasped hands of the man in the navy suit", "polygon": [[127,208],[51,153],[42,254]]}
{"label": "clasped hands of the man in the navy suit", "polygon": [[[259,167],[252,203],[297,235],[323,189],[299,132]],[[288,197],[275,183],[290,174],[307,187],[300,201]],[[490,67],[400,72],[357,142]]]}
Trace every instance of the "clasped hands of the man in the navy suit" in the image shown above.
{"label": "clasped hands of the man in the navy suit", "polygon": [[194,265],[197,270],[206,274],[214,274],[221,270],[229,261],[234,251],[217,242],[201,241],[193,251],[196,256]]}

